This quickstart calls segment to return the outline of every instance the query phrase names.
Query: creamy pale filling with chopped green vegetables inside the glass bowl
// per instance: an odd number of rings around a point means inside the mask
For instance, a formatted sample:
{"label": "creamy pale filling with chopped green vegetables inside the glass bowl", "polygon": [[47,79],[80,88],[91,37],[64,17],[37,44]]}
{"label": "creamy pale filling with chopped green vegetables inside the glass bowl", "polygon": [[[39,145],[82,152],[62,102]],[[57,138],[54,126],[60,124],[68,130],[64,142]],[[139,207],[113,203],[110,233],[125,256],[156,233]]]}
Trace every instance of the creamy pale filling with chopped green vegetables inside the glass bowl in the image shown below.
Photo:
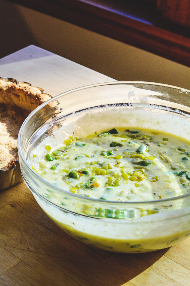
{"label": "creamy pale filling with chopped green vegetables inside the glass bowl", "polygon": [[169,134],[113,128],[83,138],[70,136],[62,145],[45,148],[36,172],[75,194],[147,201],[190,191],[190,143]]}

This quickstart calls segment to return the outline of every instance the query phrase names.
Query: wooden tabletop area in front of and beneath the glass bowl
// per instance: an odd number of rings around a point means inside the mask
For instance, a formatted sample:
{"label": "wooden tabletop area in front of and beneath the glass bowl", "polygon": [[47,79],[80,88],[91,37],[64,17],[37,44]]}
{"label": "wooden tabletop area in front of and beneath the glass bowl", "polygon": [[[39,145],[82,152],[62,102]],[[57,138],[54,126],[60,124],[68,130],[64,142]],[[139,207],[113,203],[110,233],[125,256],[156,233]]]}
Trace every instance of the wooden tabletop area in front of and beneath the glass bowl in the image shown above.
{"label": "wooden tabletop area in front of and beneath the glass bowl", "polygon": [[111,253],[68,236],[24,182],[0,193],[0,285],[189,285],[190,239],[144,254]]}

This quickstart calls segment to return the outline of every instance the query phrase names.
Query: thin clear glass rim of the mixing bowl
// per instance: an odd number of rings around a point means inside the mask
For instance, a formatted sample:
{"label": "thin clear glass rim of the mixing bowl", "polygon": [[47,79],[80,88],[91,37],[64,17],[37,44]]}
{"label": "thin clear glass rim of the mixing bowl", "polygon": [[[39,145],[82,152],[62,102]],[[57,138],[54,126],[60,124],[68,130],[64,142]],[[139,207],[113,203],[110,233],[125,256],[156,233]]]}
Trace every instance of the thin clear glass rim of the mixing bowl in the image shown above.
{"label": "thin clear glass rim of the mixing bowl", "polygon": [[[183,90],[183,91],[186,91],[188,93],[190,93],[190,90],[187,90],[185,88],[180,88],[180,87],[177,87],[177,86],[171,86],[169,84],[160,84],[160,83],[156,83],[156,82],[142,82],[142,81],[115,81],[115,82],[103,82],[103,83],[99,83],[99,84],[91,84],[91,85],[87,85],[87,86],[82,86],[82,87],[79,87],[79,88],[75,88],[75,89],[72,89],[72,90],[69,90],[69,91],[66,91],[66,92],[63,92],[61,94],[58,94],[57,96],[54,96],[53,98],[50,98],[49,100],[47,100],[46,102],[44,102],[43,104],[41,104],[40,106],[38,106],[35,110],[33,110],[29,115],[28,117],[24,120],[21,128],[20,128],[20,131],[19,131],[19,135],[18,135],[18,151],[19,151],[19,155],[21,156],[23,162],[24,162],[24,167],[29,169],[30,172],[33,173],[33,176],[34,176],[34,180],[40,180],[40,182],[43,184],[43,185],[46,185],[47,188],[53,188],[55,191],[58,191],[58,192],[62,192],[62,194],[65,194],[65,195],[69,195],[70,196],[73,196],[73,198],[79,198],[81,199],[81,195],[78,195],[78,194],[75,194],[75,193],[72,193],[72,192],[69,192],[69,191],[66,191],[64,189],[61,189],[61,188],[58,188],[57,186],[51,184],[50,182],[44,180],[41,176],[39,176],[33,169],[32,167],[28,164],[25,156],[24,156],[24,153],[23,153],[23,150],[22,150],[22,147],[21,147],[21,138],[22,138],[22,133],[23,133],[23,128],[24,128],[24,125],[26,124],[26,122],[28,122],[32,116],[38,111],[40,110],[41,108],[43,108],[43,106],[45,106],[46,104],[54,101],[54,100],[58,100],[61,96],[65,96],[67,94],[70,94],[70,93],[73,93],[73,92],[77,92],[78,90],[82,90],[82,89],[87,89],[87,88],[93,88],[93,87],[98,87],[98,86],[108,86],[108,85],[119,85],[119,84],[126,84],[126,85],[129,85],[129,84],[142,84],[142,85],[157,85],[157,86],[162,86],[162,87],[169,87],[169,88],[174,88],[174,89],[179,89],[179,90]],[[54,204],[56,206],[59,206],[60,208],[64,208],[64,206],[62,205],[59,205],[59,204],[56,204],[54,202],[52,202],[51,200],[48,200],[48,198],[44,197],[42,194],[40,194],[37,190],[35,190],[36,194],[38,194],[39,196],[41,196],[43,199],[47,200],[48,202],[50,202],[51,204]],[[82,196],[82,199],[85,200],[86,202],[101,202],[101,203],[105,203],[105,204],[126,204],[126,205],[143,205],[143,204],[156,204],[158,202],[170,202],[170,201],[174,201],[174,200],[179,200],[181,198],[185,198],[185,197],[189,197],[190,196],[190,193],[189,194],[184,194],[184,195],[181,195],[181,196],[175,196],[175,197],[171,197],[171,198],[166,198],[166,199],[159,199],[159,200],[149,200],[149,201],[123,201],[123,202],[119,202],[119,201],[112,201],[112,200],[101,200],[101,199],[95,199],[95,198],[90,198],[90,197],[86,197],[86,196]]]}

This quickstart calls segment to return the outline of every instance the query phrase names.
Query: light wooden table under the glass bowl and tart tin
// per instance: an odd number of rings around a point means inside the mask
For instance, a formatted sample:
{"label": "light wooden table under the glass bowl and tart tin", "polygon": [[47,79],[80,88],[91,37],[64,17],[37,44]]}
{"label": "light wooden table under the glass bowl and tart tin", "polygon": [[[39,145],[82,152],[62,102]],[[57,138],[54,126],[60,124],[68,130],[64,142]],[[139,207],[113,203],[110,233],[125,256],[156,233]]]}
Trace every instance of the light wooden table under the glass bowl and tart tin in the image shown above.
{"label": "light wooden table under the glass bowl and tart tin", "polygon": [[[52,96],[114,81],[35,46],[0,59],[0,76],[30,82]],[[144,254],[94,249],[60,230],[22,182],[0,193],[0,285],[189,286],[190,238]]]}

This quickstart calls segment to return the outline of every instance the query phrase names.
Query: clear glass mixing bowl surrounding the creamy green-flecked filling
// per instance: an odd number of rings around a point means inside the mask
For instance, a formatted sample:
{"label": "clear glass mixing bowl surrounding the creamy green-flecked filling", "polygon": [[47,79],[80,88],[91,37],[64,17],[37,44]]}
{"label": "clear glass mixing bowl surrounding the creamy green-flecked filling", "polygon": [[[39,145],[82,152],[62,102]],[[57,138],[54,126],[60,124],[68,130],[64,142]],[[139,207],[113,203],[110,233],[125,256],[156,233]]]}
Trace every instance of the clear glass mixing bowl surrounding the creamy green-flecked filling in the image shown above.
{"label": "clear glass mixing bowl surrounding the creamy green-flecked filling", "polygon": [[[151,82],[109,82],[77,88],[48,100],[24,121],[18,136],[24,182],[44,212],[66,233],[107,251],[163,249],[190,235],[190,194],[143,202],[93,199],[62,190],[35,172],[47,144],[69,135],[117,127],[177,134],[190,141],[190,91]],[[108,129],[109,128],[109,129]],[[32,167],[31,167],[32,166]],[[159,210],[159,211],[158,211]]]}

